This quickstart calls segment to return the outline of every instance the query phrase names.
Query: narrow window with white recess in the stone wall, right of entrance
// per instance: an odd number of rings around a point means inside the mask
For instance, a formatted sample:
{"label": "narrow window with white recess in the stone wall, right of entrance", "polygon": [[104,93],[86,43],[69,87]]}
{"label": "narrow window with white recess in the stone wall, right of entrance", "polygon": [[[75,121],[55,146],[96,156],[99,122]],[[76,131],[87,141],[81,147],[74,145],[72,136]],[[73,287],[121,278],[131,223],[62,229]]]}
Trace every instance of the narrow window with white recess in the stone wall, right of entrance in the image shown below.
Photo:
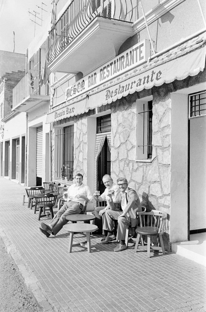
{"label": "narrow window with white recess in the stone wall, right of entrance", "polygon": [[137,160],[152,159],[152,103],[137,102]]}

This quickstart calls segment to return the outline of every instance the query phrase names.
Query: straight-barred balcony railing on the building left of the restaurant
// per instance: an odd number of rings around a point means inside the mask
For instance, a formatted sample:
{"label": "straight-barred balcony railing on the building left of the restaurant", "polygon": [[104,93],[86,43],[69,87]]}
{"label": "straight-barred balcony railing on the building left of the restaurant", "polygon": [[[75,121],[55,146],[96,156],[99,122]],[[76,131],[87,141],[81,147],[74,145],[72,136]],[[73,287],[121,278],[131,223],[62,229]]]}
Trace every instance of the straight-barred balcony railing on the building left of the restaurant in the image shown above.
{"label": "straight-barred balcony railing on the building left of the restaurant", "polygon": [[[39,85],[40,71],[30,70],[13,88],[13,108],[29,95],[48,95],[48,88]],[[45,91],[46,90],[46,91]]]}

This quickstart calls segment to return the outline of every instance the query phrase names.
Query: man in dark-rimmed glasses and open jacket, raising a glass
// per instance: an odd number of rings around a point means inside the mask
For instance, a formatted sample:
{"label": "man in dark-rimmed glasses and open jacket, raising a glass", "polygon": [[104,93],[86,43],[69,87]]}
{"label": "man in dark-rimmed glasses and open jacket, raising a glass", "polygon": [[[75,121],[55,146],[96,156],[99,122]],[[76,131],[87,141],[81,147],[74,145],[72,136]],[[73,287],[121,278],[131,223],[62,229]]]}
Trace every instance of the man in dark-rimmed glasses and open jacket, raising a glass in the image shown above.
{"label": "man in dark-rimmed glasses and open jacket, raising a glass", "polygon": [[113,220],[118,220],[117,240],[120,243],[114,248],[114,251],[122,251],[127,249],[125,244],[126,228],[127,226],[135,227],[137,224],[137,212],[142,211],[142,206],[136,191],[128,188],[126,178],[118,178],[117,185],[120,189],[117,200],[113,201],[112,196],[108,194],[110,197],[108,202],[110,209],[105,211],[103,224],[103,230],[107,231],[108,234],[101,243],[107,244],[116,238],[113,234]]}

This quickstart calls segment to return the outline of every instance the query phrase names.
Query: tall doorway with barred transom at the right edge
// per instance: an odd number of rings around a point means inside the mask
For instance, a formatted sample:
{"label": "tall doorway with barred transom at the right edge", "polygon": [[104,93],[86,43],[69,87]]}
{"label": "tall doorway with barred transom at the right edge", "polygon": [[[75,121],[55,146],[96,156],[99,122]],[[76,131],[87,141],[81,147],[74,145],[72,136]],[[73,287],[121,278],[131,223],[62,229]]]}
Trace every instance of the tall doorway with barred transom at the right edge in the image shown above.
{"label": "tall doorway with barred transom at the right edge", "polygon": [[206,232],[206,93],[189,96],[189,233]]}

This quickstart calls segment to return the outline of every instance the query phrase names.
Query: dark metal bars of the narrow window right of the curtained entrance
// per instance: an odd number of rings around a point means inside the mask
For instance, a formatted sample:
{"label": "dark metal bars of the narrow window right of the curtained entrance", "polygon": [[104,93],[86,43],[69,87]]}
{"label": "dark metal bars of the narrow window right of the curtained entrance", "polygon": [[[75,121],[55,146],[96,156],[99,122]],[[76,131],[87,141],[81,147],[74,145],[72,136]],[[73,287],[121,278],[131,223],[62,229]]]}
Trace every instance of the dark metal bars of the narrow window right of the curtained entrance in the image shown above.
{"label": "dark metal bars of the narrow window right of the curtained entrance", "polygon": [[[143,154],[144,149],[147,148],[147,159],[152,158],[152,105],[153,101],[148,101],[147,110],[145,110],[145,104],[143,104],[143,111],[138,114],[143,114]],[[146,117],[146,118],[145,118]],[[147,131],[147,144],[145,144],[145,131]]]}

